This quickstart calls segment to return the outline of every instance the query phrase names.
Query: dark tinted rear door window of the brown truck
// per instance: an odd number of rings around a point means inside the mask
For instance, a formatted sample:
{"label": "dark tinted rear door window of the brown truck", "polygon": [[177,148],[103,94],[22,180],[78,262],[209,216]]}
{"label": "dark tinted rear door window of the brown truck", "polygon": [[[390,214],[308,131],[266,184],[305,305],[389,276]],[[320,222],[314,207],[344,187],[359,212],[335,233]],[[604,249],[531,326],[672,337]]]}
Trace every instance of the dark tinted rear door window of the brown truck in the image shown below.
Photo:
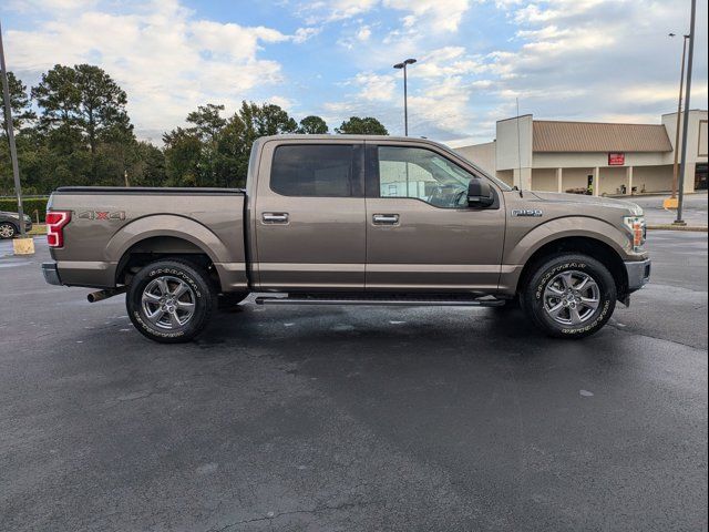
{"label": "dark tinted rear door window of the brown truck", "polygon": [[358,193],[357,146],[301,144],[276,147],[270,188],[284,196],[350,197]]}

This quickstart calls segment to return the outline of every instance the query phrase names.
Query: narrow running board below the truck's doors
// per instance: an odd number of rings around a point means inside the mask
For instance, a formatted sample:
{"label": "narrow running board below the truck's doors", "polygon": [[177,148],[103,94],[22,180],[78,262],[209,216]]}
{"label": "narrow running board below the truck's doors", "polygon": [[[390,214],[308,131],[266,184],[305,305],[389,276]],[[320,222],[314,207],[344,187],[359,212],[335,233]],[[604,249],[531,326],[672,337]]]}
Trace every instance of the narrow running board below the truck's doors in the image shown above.
{"label": "narrow running board below the truck's doors", "polygon": [[360,305],[381,307],[502,307],[504,299],[467,295],[294,294],[258,296],[257,305]]}

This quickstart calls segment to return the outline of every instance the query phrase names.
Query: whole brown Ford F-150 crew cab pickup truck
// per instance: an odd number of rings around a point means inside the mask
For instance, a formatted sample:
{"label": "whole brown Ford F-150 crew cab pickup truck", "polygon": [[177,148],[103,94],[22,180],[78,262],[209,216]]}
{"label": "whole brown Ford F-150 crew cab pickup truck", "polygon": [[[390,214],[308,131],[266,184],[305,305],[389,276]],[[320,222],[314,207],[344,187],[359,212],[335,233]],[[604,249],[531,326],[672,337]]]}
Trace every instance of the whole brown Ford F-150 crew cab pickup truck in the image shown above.
{"label": "whole brown Ford F-150 crew cab pickup truck", "polygon": [[220,301],[520,304],[555,337],[600,329],[648,282],[643,209],[521,191],[423,139],[278,135],[245,190],[61,187],[47,215],[53,285],[126,293],[161,342],[203,331]]}

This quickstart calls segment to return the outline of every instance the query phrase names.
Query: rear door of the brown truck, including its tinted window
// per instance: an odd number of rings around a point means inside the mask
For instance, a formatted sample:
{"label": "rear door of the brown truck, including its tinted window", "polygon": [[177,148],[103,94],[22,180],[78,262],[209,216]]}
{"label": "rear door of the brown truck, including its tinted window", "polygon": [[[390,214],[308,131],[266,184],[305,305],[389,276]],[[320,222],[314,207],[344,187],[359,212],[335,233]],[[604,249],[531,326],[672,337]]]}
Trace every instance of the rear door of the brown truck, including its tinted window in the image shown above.
{"label": "rear door of the brown truck, including its tinted window", "polygon": [[268,141],[254,205],[261,290],[363,290],[363,142]]}

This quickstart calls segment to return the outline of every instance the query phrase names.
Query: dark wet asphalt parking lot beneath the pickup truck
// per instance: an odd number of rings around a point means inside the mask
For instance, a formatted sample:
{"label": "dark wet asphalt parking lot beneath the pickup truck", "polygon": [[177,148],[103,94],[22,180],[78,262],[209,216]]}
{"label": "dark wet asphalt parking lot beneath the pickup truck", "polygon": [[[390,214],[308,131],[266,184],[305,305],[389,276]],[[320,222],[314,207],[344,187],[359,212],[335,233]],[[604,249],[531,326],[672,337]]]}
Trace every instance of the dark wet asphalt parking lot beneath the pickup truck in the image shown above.
{"label": "dark wet asphalt parking lot beneath the pickup truck", "polygon": [[707,530],[707,234],[582,341],[246,306],[153,344],[0,243],[0,529]]}

